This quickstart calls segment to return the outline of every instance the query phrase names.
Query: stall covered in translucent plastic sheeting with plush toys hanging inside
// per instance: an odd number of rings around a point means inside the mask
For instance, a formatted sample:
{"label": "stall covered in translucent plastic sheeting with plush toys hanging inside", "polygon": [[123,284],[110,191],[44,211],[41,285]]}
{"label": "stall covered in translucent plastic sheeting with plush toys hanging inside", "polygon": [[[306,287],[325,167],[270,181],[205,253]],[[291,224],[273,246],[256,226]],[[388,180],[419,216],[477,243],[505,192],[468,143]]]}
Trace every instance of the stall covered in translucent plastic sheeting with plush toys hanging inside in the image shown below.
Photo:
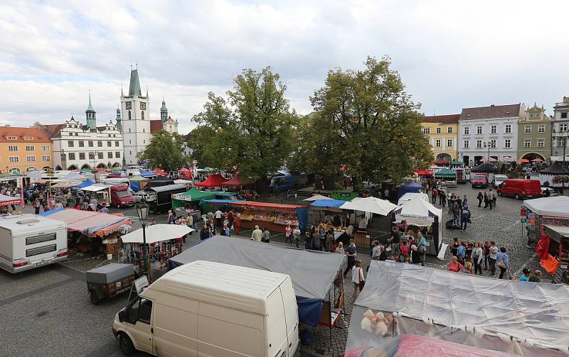
{"label": "stall covered in translucent plastic sheeting with plush toys hanging inside", "polygon": [[519,356],[566,356],[568,318],[567,285],[372,260],[353,305],[346,353],[415,334]]}

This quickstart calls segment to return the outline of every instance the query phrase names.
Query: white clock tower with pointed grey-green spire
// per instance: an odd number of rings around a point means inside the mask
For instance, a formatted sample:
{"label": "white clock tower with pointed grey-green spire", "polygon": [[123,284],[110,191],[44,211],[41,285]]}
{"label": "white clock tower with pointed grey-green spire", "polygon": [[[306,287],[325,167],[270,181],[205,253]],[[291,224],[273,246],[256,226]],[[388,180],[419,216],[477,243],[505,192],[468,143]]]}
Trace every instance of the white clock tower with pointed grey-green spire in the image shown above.
{"label": "white clock tower with pointed grey-green spire", "polygon": [[130,70],[129,93],[124,95],[121,89],[122,107],[122,143],[124,161],[127,165],[137,165],[137,155],[150,143],[150,97],[143,96],[140,90],[138,65]]}

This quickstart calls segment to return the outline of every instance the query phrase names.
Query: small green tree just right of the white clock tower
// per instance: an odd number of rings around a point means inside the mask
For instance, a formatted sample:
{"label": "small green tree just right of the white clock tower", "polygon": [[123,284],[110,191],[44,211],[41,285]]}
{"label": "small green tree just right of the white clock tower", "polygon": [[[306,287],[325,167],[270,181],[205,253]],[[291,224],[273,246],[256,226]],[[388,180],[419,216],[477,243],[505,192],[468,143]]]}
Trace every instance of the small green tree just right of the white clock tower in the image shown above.
{"label": "small green tree just right of the white clock tower", "polygon": [[164,129],[154,133],[149,145],[138,154],[138,158],[147,161],[149,167],[160,167],[166,171],[178,170],[189,162],[188,156],[184,154],[184,138]]}

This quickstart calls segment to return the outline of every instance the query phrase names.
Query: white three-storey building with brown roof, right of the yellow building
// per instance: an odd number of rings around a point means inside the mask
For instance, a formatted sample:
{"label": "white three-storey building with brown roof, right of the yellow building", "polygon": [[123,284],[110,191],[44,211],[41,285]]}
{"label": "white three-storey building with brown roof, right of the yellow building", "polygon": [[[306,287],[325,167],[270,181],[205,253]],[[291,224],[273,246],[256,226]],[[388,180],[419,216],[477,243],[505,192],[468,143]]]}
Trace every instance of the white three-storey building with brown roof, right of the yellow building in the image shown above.
{"label": "white three-storey building with brown roof, right of the yellow building", "polygon": [[474,166],[490,155],[495,160],[517,160],[518,123],[525,104],[464,108],[459,119],[459,160]]}

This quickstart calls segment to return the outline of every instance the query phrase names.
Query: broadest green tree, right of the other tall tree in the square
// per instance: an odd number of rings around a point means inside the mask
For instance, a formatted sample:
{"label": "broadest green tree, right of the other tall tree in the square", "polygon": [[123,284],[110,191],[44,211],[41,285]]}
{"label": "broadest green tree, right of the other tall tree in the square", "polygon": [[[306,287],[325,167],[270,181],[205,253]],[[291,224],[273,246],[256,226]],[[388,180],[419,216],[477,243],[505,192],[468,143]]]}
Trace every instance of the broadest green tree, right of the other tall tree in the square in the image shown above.
{"label": "broadest green tree, right of the other tall tree in the square", "polygon": [[356,182],[400,181],[416,165],[432,162],[420,104],[411,101],[388,57],[368,57],[365,65],[329,71],[324,87],[310,98],[312,120],[299,125],[307,133],[299,135],[295,153],[303,156],[294,160],[322,175],[339,175],[346,165]]}

